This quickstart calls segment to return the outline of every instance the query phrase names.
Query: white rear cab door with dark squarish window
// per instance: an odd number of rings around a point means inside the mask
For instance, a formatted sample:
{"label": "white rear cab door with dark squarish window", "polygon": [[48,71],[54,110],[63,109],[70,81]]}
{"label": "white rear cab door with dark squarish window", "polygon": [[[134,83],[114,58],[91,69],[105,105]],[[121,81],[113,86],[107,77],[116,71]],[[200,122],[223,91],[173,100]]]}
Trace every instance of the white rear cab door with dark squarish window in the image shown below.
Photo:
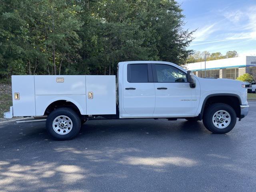
{"label": "white rear cab door with dark squarish window", "polygon": [[123,108],[126,117],[152,115],[156,93],[151,64],[127,64],[123,76]]}

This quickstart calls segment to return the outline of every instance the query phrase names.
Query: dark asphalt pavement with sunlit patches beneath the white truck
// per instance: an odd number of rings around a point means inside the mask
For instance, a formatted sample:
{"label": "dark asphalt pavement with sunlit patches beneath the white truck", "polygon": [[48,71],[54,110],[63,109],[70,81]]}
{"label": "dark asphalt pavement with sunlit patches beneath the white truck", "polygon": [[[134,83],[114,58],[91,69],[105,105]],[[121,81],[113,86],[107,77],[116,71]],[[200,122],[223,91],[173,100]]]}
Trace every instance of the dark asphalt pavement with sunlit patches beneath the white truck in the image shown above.
{"label": "dark asphalt pavement with sunlit patches beneath the white truck", "polygon": [[0,124],[0,191],[255,191],[256,102],[228,134],[186,120],[95,120],[73,140]]}

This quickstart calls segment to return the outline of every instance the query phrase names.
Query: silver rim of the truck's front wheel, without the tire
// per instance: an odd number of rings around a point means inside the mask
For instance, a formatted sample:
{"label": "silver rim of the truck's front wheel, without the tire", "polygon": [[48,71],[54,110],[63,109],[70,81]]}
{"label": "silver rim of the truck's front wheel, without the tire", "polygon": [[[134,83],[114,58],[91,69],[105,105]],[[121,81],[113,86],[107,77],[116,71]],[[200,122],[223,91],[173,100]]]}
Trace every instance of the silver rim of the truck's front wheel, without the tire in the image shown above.
{"label": "silver rim of the truck's front wheel, without the tire", "polygon": [[212,117],[212,122],[217,128],[226,128],[231,122],[230,114],[225,110],[219,110],[214,113]]}

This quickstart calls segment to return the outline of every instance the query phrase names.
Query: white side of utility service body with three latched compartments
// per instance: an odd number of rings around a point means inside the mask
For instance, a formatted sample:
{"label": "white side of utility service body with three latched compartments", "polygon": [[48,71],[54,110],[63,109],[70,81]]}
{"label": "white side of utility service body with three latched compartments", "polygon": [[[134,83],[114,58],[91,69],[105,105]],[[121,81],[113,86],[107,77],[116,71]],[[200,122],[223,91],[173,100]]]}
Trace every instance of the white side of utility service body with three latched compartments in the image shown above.
{"label": "white side of utility service body with three latched compartments", "polygon": [[[60,79],[61,82],[57,82]],[[14,93],[20,99],[14,99]],[[88,92],[93,98],[88,98]],[[12,76],[13,116],[43,116],[58,100],[75,104],[82,115],[116,114],[115,76],[19,75]]]}

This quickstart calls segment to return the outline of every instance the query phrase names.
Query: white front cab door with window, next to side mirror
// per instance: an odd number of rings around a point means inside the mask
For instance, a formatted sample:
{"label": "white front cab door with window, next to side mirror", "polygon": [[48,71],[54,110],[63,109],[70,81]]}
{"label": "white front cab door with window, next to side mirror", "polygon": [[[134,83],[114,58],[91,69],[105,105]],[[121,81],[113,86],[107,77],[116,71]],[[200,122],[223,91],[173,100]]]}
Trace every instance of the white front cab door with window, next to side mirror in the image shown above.
{"label": "white front cab door with window, next to side mirror", "polygon": [[152,64],[156,107],[160,116],[194,116],[200,99],[200,87],[190,88],[186,73],[168,64]]}

